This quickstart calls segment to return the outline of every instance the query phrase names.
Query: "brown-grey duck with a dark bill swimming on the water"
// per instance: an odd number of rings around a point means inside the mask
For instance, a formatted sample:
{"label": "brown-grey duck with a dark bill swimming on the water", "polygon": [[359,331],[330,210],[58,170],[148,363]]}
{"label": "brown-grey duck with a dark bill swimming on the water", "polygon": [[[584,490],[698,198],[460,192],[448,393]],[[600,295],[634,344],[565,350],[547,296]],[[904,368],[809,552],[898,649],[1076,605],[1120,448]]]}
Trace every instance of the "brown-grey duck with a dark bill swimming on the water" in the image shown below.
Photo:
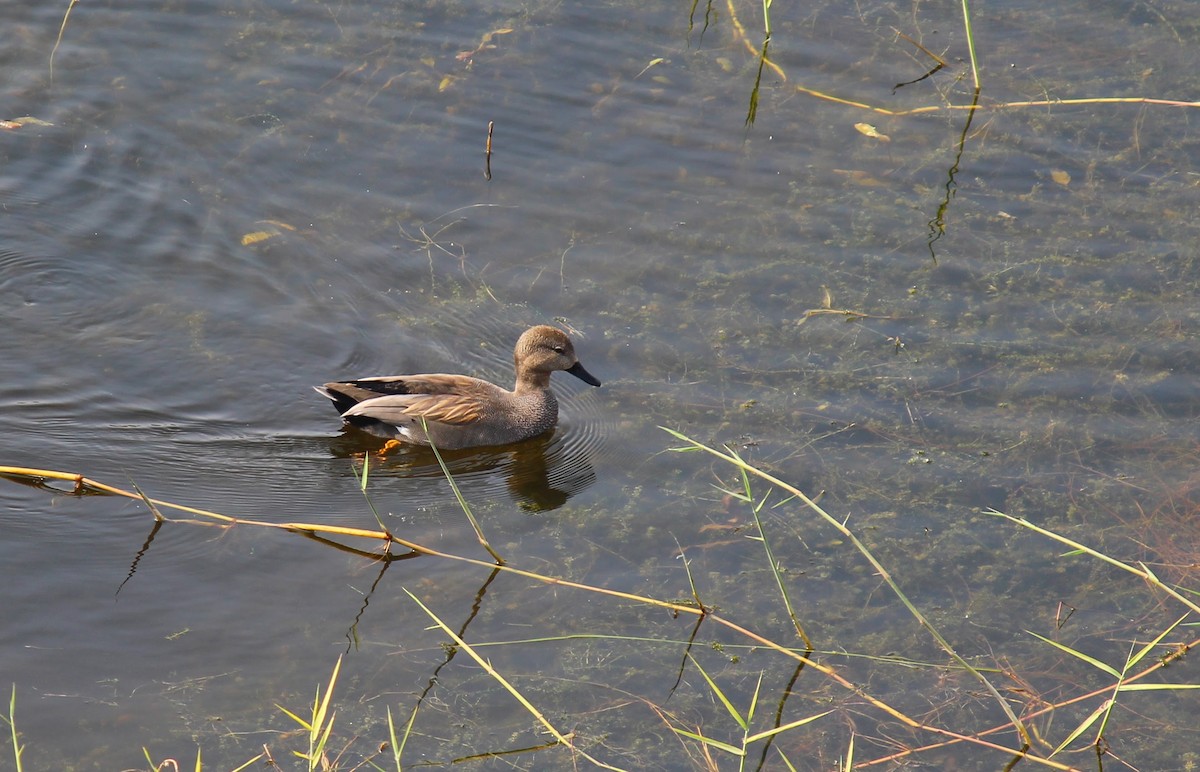
{"label": "brown-grey duck with a dark bill swimming on the water", "polygon": [[517,382],[511,391],[444,373],[335,381],[313,388],[332,400],[352,426],[400,443],[427,445],[432,439],[437,448],[457,449],[521,442],[552,429],[558,400],[550,390],[550,373],[556,370],[600,385],[558,328],[541,324],[526,330],[512,360]]}

